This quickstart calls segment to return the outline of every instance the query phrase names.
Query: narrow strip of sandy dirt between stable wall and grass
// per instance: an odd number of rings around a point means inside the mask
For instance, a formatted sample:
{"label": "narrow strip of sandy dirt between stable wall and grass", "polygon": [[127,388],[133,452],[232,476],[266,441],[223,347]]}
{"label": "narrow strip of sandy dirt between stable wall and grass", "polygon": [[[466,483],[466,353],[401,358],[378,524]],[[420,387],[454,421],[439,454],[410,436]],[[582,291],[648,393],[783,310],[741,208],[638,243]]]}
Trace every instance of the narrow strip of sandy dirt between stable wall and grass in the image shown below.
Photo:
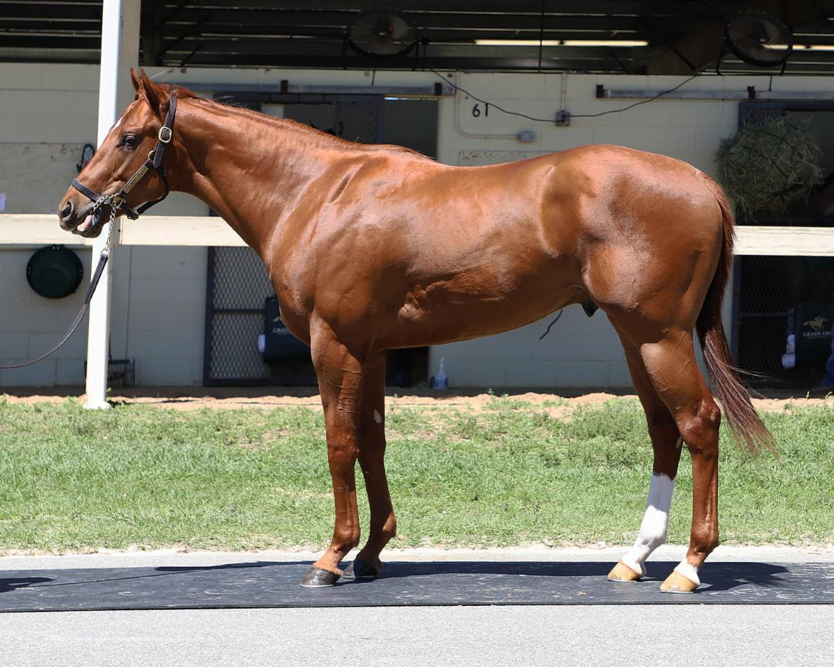
{"label": "narrow strip of sandy dirt between stable wall and grass", "polygon": [[[451,389],[436,392],[424,388],[389,389],[386,392],[387,407],[425,406],[430,408],[489,409],[496,396],[542,405],[550,412],[570,413],[580,405],[600,404],[618,397],[636,398],[628,390],[589,391],[564,389],[560,394],[550,394],[536,389],[497,389],[490,394],[485,389]],[[83,400],[82,387],[56,388],[8,388],[2,397],[10,403],[61,403],[68,398]],[[278,405],[304,406],[321,409],[318,390],[314,387],[137,387],[114,389],[108,395],[113,404],[148,404],[160,408],[178,410],[269,409]],[[834,393],[791,392],[784,389],[764,392],[762,398],[753,399],[756,409],[781,411],[786,405],[817,406],[834,409]]]}

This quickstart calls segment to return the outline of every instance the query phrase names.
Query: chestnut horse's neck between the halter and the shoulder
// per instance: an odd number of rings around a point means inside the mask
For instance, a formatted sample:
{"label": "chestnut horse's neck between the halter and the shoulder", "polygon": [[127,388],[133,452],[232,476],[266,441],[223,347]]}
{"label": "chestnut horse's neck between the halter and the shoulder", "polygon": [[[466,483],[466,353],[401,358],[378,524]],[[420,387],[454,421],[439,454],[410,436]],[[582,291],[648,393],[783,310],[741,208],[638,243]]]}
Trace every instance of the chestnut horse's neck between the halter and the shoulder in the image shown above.
{"label": "chestnut horse's neck between the halter and the shoulder", "polygon": [[184,99],[177,129],[188,155],[171,173],[173,188],[207,203],[264,257],[324,162],[299,141],[298,130],[236,108]]}

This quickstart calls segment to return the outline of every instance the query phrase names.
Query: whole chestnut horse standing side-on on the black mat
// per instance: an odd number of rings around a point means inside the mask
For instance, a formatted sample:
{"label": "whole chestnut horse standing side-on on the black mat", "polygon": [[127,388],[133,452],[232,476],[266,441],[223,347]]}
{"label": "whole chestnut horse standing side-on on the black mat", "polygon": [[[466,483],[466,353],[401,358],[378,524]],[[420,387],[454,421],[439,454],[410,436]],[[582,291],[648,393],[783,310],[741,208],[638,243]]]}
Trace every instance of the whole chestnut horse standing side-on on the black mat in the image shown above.
{"label": "whole chestnut horse standing side-on on the black mat", "polygon": [[[579,303],[601,308],[619,334],[654,449],[636,543],[609,579],[640,579],[665,541],[686,443],[690,545],[661,589],[696,589],[718,544],[721,412],[696,364],[693,330],[736,441],[754,453],[772,447],[721,327],[733,222],[716,183],[676,159],[602,145],[450,167],[131,74],[136,100],[79,175],[87,193],[73,186],[63,198],[60,224],[97,236],[111,209],[133,213],[170,187],[203,200],[264,260],[284,323],[312,351],[333,478],[333,540],[303,585],[373,578],[395,534],[386,350],[499,333]],[[357,459],[369,537],[342,572],[359,545]]]}

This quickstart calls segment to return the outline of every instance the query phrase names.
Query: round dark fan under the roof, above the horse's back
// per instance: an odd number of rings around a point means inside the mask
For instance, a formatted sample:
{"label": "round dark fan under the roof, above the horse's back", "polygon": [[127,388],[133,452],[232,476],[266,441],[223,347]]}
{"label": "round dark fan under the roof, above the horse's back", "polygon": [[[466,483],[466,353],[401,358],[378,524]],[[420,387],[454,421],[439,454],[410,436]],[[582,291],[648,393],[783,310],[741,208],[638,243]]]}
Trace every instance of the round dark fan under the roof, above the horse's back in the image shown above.
{"label": "round dark fan under the roof, above the horse's back", "polygon": [[394,9],[366,9],[348,26],[347,39],[363,56],[397,58],[414,48],[417,30],[414,23]]}

